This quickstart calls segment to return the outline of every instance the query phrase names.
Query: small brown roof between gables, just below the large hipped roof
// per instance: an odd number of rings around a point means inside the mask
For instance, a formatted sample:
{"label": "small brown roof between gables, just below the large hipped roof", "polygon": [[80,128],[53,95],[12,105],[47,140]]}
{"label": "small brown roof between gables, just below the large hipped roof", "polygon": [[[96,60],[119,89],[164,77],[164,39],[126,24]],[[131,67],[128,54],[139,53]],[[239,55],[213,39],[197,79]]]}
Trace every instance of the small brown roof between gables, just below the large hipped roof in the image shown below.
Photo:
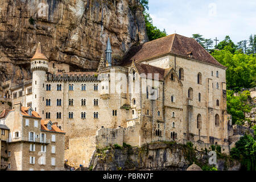
{"label": "small brown roof between gables, just below the large hipped roof", "polygon": [[149,64],[143,64],[143,63],[134,63],[137,71],[139,74],[144,73],[146,77],[148,78],[148,73],[152,73],[152,78],[155,78],[155,74],[159,74],[159,80],[163,81],[164,80],[164,72],[165,69],[159,68],[159,67],[154,67]]}

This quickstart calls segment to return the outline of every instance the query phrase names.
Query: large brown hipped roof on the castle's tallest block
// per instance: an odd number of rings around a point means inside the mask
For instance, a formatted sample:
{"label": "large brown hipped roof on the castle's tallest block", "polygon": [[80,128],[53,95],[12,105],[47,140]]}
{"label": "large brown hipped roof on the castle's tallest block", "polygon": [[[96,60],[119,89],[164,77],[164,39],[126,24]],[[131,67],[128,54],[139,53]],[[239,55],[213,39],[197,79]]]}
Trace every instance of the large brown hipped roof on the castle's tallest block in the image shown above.
{"label": "large brown hipped roof on the castle's tallest block", "polygon": [[140,46],[131,47],[123,57],[122,65],[129,65],[133,60],[143,61],[166,53],[174,53],[185,57],[189,57],[189,54],[192,53],[193,59],[224,67],[197,43],[195,39],[187,38],[179,34],[168,35],[141,44]]}

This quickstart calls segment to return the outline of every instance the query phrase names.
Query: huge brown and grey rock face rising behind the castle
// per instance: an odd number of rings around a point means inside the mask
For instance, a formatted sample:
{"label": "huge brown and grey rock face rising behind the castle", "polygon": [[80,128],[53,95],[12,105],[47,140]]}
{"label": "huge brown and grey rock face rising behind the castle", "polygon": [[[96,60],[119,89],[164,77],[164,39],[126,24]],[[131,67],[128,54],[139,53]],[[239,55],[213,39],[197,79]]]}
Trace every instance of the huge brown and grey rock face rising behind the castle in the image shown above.
{"label": "huge brown and grey rock face rising behind the castle", "polygon": [[110,37],[118,64],[148,40],[142,11],[139,0],[1,0],[0,81],[30,78],[38,42],[49,61],[86,71],[97,69]]}

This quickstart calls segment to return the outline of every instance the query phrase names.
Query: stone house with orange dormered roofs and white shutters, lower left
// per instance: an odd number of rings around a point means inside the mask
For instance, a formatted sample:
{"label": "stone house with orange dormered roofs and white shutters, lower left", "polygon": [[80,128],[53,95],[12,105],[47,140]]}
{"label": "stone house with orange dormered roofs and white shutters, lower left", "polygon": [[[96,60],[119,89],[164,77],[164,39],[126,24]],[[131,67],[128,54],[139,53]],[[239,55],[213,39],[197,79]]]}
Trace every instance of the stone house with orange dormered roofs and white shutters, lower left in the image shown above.
{"label": "stone house with orange dormered roofs and white shutters, lower left", "polygon": [[57,123],[42,119],[31,107],[23,107],[19,102],[14,104],[14,109],[4,110],[0,118],[1,159],[5,159],[1,160],[1,168],[10,171],[64,169],[65,133]]}

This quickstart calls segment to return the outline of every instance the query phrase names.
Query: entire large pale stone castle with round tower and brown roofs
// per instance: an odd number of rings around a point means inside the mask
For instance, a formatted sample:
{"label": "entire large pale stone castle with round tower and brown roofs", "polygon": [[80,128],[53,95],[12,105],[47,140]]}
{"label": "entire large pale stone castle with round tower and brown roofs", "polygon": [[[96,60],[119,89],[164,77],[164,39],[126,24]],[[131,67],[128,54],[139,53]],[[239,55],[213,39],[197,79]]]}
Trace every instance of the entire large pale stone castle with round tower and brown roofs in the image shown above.
{"label": "entire large pale stone castle with round tower and brown roofs", "polygon": [[108,39],[105,55],[97,72],[69,72],[49,63],[39,43],[32,80],[4,82],[2,95],[57,122],[73,166],[88,166],[96,147],[122,142],[191,141],[229,152],[226,67],[194,39],[172,34],[131,47],[119,65]]}

